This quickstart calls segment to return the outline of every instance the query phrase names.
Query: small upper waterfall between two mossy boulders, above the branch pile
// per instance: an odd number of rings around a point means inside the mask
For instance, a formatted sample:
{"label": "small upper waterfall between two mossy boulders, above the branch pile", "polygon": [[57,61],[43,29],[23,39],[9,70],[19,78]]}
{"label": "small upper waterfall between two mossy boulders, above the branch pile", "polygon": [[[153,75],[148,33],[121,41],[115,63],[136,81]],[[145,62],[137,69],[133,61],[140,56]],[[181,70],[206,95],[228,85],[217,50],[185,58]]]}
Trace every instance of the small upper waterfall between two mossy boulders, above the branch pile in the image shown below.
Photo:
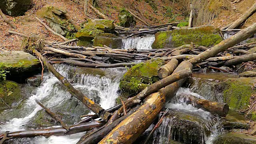
{"label": "small upper waterfall between two mossy boulders, above the branch pile", "polygon": [[122,49],[136,48],[137,50],[152,49],[151,45],[155,40],[154,35],[145,37],[122,38]]}

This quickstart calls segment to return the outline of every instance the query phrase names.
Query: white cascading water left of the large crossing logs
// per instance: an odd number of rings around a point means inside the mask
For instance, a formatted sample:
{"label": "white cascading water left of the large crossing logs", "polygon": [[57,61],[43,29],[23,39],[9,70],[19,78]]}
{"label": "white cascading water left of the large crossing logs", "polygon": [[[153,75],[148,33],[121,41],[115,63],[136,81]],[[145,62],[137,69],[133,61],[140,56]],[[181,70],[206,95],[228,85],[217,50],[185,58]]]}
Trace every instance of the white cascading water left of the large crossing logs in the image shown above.
{"label": "white cascading water left of the large crossing logs", "polygon": [[[72,82],[74,88],[81,90],[89,98],[98,100],[104,109],[114,106],[115,99],[118,97],[117,91],[120,78],[126,70],[125,68],[110,68],[104,70],[106,73],[110,71],[110,76],[93,76],[92,74],[77,74],[76,68],[64,64],[55,65],[55,68],[60,74]],[[36,104],[35,100],[40,100],[44,106],[52,108],[70,98],[71,94],[60,84],[59,80],[53,74],[45,74],[44,80],[41,86],[38,87],[36,94],[28,98],[24,106],[18,110],[19,116],[17,117],[19,118],[1,122],[0,132],[2,133],[6,130],[10,132],[26,130],[26,124],[33,120],[36,117],[36,113],[42,109]],[[3,112],[1,115],[8,114],[11,111]],[[29,142],[39,144],[75,144],[82,135],[83,133],[73,134],[71,136],[50,136],[49,138],[38,136],[29,140]],[[28,141],[26,138],[20,138],[19,143],[27,144]]]}

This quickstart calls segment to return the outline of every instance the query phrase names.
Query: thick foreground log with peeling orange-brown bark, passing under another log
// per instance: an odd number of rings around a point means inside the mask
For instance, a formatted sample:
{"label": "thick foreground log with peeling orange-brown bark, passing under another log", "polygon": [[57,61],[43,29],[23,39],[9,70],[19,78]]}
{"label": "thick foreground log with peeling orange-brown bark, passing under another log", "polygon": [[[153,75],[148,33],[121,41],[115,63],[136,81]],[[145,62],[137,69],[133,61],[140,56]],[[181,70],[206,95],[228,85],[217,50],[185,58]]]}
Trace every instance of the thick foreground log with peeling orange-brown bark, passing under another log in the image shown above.
{"label": "thick foreground log with peeling orange-brown bark, passing under another log", "polygon": [[[184,68],[190,69],[191,71],[192,64],[188,61],[182,62],[176,70],[174,70],[174,74]],[[184,79],[179,80],[162,88],[156,93],[150,94],[138,110],[125,118],[98,144],[131,144],[134,142],[150,126],[164,107],[166,100],[174,96],[175,92],[184,81]]]}

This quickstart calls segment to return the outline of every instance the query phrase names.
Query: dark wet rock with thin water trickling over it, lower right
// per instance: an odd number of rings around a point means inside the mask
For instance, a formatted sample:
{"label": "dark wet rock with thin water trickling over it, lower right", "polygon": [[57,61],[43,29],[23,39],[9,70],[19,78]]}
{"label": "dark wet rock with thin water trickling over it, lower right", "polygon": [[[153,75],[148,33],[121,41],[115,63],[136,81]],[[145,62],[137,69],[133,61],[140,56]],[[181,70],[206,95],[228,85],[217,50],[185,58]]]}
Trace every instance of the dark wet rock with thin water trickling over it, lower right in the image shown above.
{"label": "dark wet rock with thin water trickling over it, lower right", "polygon": [[168,138],[182,144],[204,144],[204,136],[209,136],[210,131],[204,126],[204,119],[199,115],[171,110],[155,134],[154,140],[159,144],[166,144]]}

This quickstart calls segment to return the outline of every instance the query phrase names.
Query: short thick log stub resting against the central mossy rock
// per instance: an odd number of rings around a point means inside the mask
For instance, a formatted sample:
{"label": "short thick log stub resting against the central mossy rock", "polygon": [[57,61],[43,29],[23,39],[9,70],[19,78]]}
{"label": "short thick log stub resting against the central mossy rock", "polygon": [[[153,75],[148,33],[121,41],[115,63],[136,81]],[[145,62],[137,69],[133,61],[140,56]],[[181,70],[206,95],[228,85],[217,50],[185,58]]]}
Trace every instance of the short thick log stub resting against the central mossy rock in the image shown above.
{"label": "short thick log stub resting against the central mossy rock", "polygon": [[178,60],[175,58],[171,59],[167,64],[161,66],[160,69],[157,71],[159,78],[163,79],[167,76],[170,76],[172,72],[177,68]]}

